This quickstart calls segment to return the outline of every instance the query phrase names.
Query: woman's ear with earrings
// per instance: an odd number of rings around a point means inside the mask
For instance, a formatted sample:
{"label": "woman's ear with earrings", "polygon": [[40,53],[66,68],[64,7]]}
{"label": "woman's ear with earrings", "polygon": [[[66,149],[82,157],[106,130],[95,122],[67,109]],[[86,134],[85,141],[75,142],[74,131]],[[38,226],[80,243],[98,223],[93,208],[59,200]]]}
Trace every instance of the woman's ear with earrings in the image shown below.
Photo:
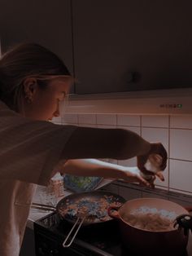
{"label": "woman's ear with earrings", "polygon": [[24,80],[24,98],[27,99],[28,102],[33,102],[37,86],[36,78],[28,77]]}

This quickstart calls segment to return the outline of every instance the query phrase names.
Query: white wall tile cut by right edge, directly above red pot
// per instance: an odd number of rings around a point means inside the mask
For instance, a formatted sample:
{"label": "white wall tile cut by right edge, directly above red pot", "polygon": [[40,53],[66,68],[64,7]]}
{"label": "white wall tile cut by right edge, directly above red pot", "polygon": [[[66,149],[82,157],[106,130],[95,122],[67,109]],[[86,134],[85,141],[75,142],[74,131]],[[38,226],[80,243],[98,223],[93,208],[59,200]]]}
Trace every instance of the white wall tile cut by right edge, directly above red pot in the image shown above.
{"label": "white wall tile cut by right edge, directly above red pot", "polygon": [[192,192],[192,161],[170,159],[170,188]]}

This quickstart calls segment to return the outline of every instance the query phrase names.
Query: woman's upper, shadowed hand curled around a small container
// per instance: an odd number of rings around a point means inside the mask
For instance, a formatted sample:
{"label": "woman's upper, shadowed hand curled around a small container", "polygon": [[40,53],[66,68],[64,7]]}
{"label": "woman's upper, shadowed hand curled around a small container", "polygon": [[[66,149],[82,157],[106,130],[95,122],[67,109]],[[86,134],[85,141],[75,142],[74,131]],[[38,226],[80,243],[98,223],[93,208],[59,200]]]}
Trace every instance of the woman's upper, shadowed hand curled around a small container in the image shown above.
{"label": "woman's upper, shadowed hand curled around a small container", "polygon": [[[154,171],[147,170],[145,166],[146,161],[148,160],[150,155],[159,155],[161,157],[161,163],[159,164],[158,167],[160,171],[166,168],[168,160],[168,153],[166,149],[164,148],[162,143],[151,143],[151,150],[146,155],[137,156],[137,167],[139,170],[142,171],[143,174],[154,175]],[[164,180],[164,176],[160,171],[156,173],[156,175],[159,177],[159,179]]]}

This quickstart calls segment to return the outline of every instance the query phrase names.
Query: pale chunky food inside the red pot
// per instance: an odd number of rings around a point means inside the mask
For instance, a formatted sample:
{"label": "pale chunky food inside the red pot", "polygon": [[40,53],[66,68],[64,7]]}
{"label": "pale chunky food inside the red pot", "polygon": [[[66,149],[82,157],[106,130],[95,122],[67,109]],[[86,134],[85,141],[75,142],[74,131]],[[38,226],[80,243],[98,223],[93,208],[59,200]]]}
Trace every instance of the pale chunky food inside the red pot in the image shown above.
{"label": "pale chunky food inside the red pot", "polygon": [[164,232],[175,229],[173,227],[174,219],[177,214],[168,210],[157,210],[156,208],[148,208],[145,206],[139,209],[124,213],[122,218],[126,223],[131,224],[146,231]]}

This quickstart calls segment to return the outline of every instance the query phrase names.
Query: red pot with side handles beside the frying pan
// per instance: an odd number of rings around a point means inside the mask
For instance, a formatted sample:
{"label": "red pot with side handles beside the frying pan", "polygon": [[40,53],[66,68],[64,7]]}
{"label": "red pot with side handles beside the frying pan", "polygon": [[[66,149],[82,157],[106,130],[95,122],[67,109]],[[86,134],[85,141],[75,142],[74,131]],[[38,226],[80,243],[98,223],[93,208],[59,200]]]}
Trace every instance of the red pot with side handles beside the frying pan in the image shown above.
{"label": "red pot with side handles beside the frying pan", "polygon": [[156,210],[166,210],[173,212],[177,216],[189,214],[181,205],[172,201],[159,198],[141,198],[127,201],[120,208],[110,207],[108,214],[111,218],[118,219],[120,223],[120,233],[124,245],[133,252],[134,255],[185,255],[189,232],[184,234],[183,228],[169,231],[147,231],[134,227],[124,220],[124,213],[130,214],[140,207],[155,208]]}

